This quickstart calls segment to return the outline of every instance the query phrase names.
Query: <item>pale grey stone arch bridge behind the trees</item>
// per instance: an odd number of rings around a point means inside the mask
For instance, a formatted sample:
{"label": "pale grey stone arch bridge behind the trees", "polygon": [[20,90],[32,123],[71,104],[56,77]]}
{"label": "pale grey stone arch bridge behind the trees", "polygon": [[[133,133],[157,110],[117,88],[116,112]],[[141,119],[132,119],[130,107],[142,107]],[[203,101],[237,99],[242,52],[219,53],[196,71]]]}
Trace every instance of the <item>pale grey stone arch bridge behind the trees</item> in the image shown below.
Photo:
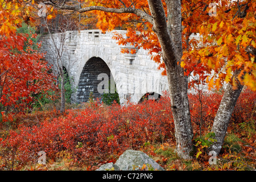
{"label": "pale grey stone arch bridge behind the trees", "polygon": [[[126,34],[122,30],[115,32]],[[57,49],[61,52],[59,64],[67,69],[72,88],[76,88],[71,96],[73,103],[88,101],[90,92],[101,97],[102,93],[117,90],[120,104],[124,105],[127,101],[139,102],[146,93],[153,93],[151,99],[158,98],[158,94],[168,90],[167,77],[161,75],[162,70],[157,69],[158,64],[150,59],[148,51],[121,53],[122,48],[134,47],[119,46],[113,35],[113,32],[83,30],[53,34],[53,39],[49,35],[40,38],[46,59],[55,71]]]}

